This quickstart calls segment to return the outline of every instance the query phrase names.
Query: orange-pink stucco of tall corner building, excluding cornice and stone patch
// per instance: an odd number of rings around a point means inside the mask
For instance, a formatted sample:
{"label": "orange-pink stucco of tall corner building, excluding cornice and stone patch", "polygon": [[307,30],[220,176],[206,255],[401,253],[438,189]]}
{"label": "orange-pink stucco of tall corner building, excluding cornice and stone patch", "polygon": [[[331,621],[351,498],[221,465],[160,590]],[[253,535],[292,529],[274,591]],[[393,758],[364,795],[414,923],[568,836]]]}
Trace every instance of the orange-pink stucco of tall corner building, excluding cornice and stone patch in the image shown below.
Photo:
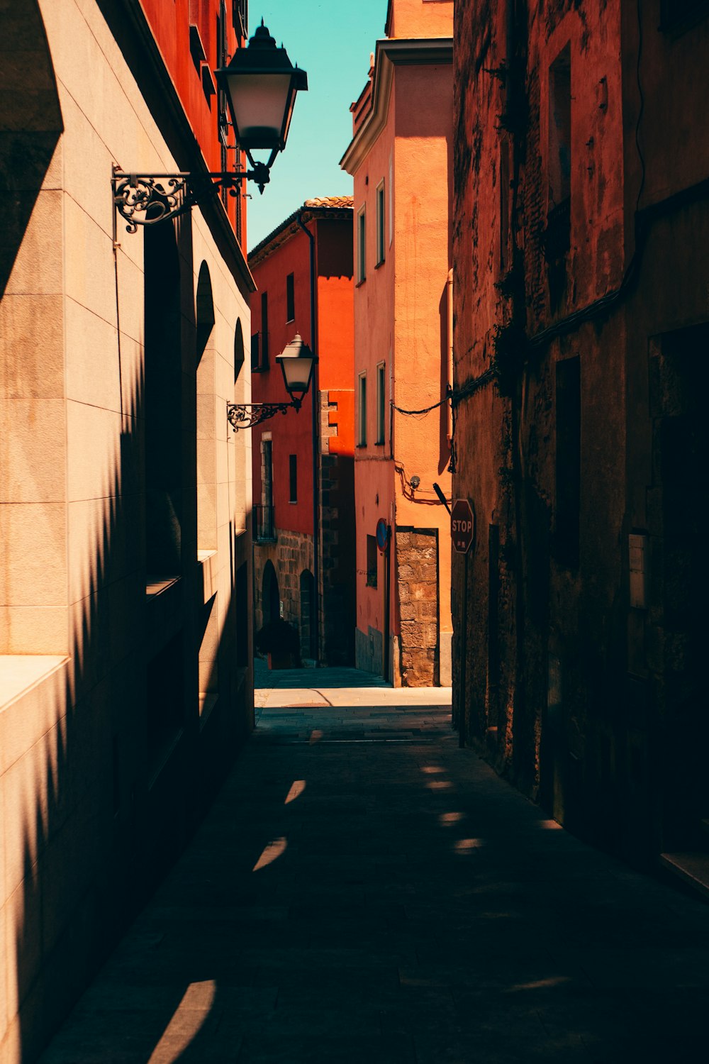
{"label": "orange-pink stucco of tall corner building, excluding cornice and stone patch", "polygon": [[[419,28],[425,9],[448,12],[453,4],[393,5],[394,26]],[[401,16],[401,20],[396,22]],[[443,21],[437,30],[443,33]],[[388,62],[384,60],[384,62]],[[376,77],[376,74],[375,74]],[[439,627],[450,633],[451,547],[449,515],[433,489],[438,482],[450,495],[450,453],[445,404],[424,416],[392,409],[419,410],[438,403],[448,380],[446,279],[451,266],[449,198],[452,180],[453,80],[450,65],[395,65],[384,129],[354,173],[355,248],[357,215],[366,211],[366,279],[355,290],[355,404],[358,378],[367,373],[367,446],[356,447],[357,628],[383,632],[385,560],[378,558],[377,586],[367,583],[367,536],[384,518],[391,527],[438,530]],[[364,116],[366,117],[366,116]],[[361,123],[358,123],[361,128]],[[357,134],[355,134],[357,135]],[[376,264],[376,189],[385,187],[385,261]],[[390,220],[393,219],[393,222]],[[357,277],[355,266],[355,278]],[[376,437],[376,367],[385,363],[384,443]],[[355,438],[360,436],[356,427]],[[420,478],[411,491],[410,478]],[[391,549],[390,633],[401,632],[395,545]],[[376,663],[374,663],[376,665]],[[394,683],[401,676],[394,668]]]}

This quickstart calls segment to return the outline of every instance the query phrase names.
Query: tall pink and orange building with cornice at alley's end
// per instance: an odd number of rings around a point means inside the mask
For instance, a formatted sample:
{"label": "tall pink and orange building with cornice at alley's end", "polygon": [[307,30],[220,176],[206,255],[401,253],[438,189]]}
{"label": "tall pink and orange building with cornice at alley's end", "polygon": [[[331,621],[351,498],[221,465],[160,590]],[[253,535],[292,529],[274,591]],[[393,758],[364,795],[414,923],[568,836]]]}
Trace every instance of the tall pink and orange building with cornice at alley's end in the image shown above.
{"label": "tall pink and orange building with cornice at alley's end", "polygon": [[390,0],[340,163],[355,210],[355,659],[396,686],[451,682],[434,484],[450,495],[452,31],[452,0]]}

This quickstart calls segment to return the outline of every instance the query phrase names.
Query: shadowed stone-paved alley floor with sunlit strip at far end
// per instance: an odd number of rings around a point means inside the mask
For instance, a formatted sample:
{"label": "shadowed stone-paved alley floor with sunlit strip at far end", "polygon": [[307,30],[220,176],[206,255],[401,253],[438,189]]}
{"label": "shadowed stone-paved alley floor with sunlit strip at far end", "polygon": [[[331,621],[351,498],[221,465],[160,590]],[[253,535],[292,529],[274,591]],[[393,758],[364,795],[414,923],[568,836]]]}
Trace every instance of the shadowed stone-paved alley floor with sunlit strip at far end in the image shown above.
{"label": "shadowed stone-paved alley floor with sunlit strip at far end", "polygon": [[450,693],[325,671],[261,688],[212,812],[43,1064],[706,1060],[709,907],[459,750]]}

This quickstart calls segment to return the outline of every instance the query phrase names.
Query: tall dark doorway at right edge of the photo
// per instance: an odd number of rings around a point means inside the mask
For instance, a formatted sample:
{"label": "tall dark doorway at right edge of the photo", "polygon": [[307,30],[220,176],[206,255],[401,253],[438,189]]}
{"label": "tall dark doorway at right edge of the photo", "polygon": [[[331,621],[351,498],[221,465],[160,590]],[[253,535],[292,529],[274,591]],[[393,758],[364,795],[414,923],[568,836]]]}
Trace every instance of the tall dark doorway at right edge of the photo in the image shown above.
{"label": "tall dark doorway at right edge of the photo", "polygon": [[664,849],[700,846],[709,818],[708,386],[709,326],[662,336],[651,355],[654,480],[662,498],[660,549],[651,552],[651,558],[661,558],[661,572],[651,588],[662,589],[662,675],[657,679],[663,718],[658,759],[664,781]]}

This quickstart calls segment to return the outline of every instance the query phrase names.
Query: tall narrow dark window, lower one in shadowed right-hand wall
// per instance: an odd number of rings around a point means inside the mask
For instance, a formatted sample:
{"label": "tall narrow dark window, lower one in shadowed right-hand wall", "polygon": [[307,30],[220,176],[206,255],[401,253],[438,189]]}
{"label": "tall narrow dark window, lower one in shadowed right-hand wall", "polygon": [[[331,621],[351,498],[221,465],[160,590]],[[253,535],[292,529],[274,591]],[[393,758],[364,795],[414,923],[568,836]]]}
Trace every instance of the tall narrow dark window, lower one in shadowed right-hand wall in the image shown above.
{"label": "tall narrow dark window, lower one in shadowed right-hand wall", "polygon": [[555,552],[565,568],[578,565],[581,498],[580,362],[556,364]]}

